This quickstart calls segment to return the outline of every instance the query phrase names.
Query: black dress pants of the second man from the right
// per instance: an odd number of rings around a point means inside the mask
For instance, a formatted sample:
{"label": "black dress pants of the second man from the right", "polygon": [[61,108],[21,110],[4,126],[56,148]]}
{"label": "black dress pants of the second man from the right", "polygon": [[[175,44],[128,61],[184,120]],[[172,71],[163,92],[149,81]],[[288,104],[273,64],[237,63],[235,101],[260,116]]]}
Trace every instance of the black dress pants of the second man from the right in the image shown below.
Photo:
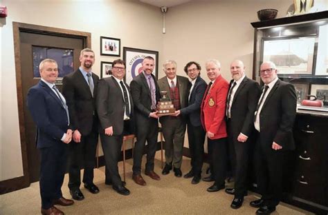
{"label": "black dress pants of the second man from the right", "polygon": [[233,176],[235,176],[235,196],[242,198],[247,191],[248,158],[250,137],[241,143],[237,141],[239,133],[233,133],[233,124],[228,121],[228,154]]}

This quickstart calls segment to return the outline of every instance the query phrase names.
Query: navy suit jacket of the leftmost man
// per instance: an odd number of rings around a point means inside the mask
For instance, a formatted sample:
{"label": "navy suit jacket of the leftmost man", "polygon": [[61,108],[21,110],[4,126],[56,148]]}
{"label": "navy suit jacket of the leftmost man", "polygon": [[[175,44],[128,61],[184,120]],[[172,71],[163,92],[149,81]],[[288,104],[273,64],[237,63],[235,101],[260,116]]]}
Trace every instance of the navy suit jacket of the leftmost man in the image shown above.
{"label": "navy suit jacket of the leftmost man", "polygon": [[37,148],[61,144],[62,136],[69,129],[69,121],[55,92],[44,81],[39,81],[28,90],[27,105],[33,121],[37,124]]}

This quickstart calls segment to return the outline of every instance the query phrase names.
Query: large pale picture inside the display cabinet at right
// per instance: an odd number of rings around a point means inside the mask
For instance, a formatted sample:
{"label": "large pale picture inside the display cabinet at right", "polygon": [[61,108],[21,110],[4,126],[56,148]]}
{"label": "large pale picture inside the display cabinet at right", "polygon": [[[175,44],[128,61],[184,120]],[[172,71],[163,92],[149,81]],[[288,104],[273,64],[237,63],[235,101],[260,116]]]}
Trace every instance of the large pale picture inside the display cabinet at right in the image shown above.
{"label": "large pale picture inside the display cabinet at right", "polygon": [[262,62],[272,61],[278,75],[313,74],[315,37],[264,39]]}

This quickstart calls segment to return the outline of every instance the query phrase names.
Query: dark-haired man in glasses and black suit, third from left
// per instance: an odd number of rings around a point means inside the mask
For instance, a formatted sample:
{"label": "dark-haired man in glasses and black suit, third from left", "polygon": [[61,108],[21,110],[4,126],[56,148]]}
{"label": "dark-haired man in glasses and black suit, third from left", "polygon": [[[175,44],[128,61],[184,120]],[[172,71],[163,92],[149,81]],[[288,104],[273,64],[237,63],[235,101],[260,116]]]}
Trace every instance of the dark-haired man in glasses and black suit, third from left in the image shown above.
{"label": "dark-haired man in glasses and black suit, third from left", "polygon": [[113,76],[101,79],[98,84],[96,107],[100,121],[100,139],[109,172],[107,177],[110,177],[113,190],[118,194],[129,195],[129,190],[118,174],[118,159],[123,135],[134,133],[134,103],[129,87],[123,81],[125,62],[121,59],[113,61],[111,73]]}

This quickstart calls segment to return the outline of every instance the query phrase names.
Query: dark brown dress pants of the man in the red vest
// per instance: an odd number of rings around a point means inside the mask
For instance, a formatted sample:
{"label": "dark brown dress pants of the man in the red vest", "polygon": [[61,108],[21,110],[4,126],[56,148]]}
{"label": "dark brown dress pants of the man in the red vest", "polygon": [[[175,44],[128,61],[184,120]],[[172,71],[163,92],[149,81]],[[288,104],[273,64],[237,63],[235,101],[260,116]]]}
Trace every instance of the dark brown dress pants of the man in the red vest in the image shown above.
{"label": "dark brown dress pants of the man in the red vest", "polygon": [[185,122],[181,116],[164,117],[168,117],[162,122],[162,131],[165,139],[165,163],[179,169],[182,163]]}

